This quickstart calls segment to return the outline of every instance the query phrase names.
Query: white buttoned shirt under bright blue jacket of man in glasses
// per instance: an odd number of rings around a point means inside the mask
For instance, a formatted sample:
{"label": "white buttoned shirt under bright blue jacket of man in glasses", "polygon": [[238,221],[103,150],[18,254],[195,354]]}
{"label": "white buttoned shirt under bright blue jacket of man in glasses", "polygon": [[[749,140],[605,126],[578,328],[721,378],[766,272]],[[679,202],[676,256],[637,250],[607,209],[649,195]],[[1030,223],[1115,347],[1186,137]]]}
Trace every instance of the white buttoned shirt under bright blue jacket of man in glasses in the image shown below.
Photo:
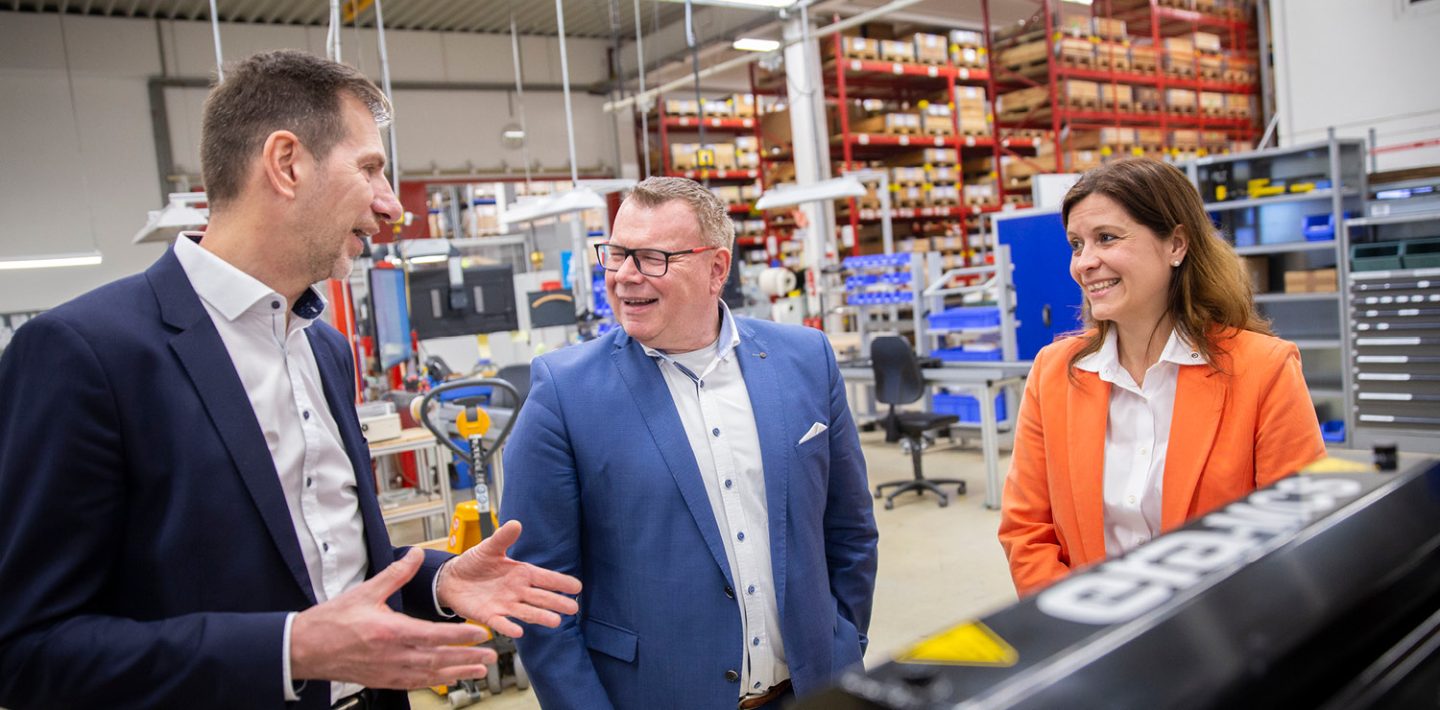
{"label": "white buttoned shirt under bright blue jacket of man in glasses", "polygon": [[760,433],[755,426],[750,390],[734,356],[739,344],[740,333],[721,301],[720,337],[713,346],[680,354],[647,347],[645,354],[655,359],[670,387],[724,542],[744,634],[744,665],[740,668],[740,697],[744,697],[789,678],[791,670],[785,662],[770,567]]}

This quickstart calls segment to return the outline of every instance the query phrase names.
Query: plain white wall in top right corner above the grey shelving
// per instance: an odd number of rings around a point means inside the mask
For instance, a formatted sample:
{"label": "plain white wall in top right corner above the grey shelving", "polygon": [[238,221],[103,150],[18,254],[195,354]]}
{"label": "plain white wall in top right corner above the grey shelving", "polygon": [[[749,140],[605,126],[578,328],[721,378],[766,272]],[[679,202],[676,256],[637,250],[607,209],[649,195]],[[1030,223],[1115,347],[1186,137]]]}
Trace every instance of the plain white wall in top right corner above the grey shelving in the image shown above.
{"label": "plain white wall in top right corner above the grey shelving", "polygon": [[[1270,0],[1282,144],[1440,138],[1440,0]],[[1440,147],[1382,153],[1380,170],[1440,164]]]}

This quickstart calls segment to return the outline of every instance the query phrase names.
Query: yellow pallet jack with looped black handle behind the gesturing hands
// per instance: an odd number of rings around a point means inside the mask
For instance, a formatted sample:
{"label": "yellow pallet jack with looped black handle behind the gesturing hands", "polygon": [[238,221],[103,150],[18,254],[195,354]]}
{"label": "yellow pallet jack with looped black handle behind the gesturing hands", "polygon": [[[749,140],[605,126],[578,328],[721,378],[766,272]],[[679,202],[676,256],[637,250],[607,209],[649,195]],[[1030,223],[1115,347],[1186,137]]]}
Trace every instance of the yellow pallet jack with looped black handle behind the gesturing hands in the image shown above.
{"label": "yellow pallet jack with looped black handle behind the gesturing hands", "polygon": [[[490,431],[491,422],[490,415],[481,409],[481,400],[485,399],[484,395],[451,397],[444,406],[435,406],[435,403],[448,392],[452,393],[464,389],[478,390],[481,387],[507,390],[514,402],[520,402],[520,392],[516,390],[514,385],[495,377],[451,380],[433,387],[423,399],[415,400],[418,403],[416,412],[413,412],[418,415],[416,419],[435,435],[436,441],[469,465],[469,472],[475,480],[475,500],[455,505],[455,514],[451,518],[449,539],[445,549],[455,554],[480,544],[481,540],[494,534],[500,527],[498,501],[491,495],[494,481],[491,481],[490,459],[495,451],[500,451],[500,446],[510,435],[520,408],[517,406],[511,412],[504,429],[495,436],[495,442],[491,446],[485,446],[484,436]],[[436,415],[441,413],[448,415],[446,419],[454,423],[454,431],[436,423]],[[462,439],[465,445],[458,444],[455,438]],[[468,624],[484,626],[484,624],[474,621]],[[465,678],[451,686],[431,687],[438,696],[446,698],[451,707],[465,707],[480,703],[484,700],[485,693],[491,696],[498,694],[505,686],[514,686],[517,690],[530,687],[530,675],[526,673],[524,664],[520,662],[514,639],[495,634],[488,626],[485,628],[490,631],[491,639],[484,645],[498,654],[495,662],[485,668],[485,677]]]}

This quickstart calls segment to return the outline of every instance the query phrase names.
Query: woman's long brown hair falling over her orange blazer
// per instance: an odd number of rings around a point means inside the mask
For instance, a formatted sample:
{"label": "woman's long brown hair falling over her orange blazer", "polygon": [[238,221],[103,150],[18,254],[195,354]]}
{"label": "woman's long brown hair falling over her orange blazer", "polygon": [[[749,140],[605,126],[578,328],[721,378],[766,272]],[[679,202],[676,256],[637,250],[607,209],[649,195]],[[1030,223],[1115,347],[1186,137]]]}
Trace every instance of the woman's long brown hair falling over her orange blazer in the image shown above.
{"label": "woman's long brown hair falling over her orange blazer", "polygon": [[[1092,194],[1116,202],[1130,219],[1171,239],[1184,228],[1189,238],[1185,259],[1171,275],[1168,314],[1175,330],[1185,337],[1212,367],[1221,369],[1218,340],[1227,331],[1251,330],[1270,336],[1270,321],[1256,313],[1254,294],[1246,265],[1205,215],[1195,186],[1169,163],[1149,158],[1125,158],[1100,166],[1080,177],[1060,209],[1070,229],[1070,210]],[[1070,367],[1100,350],[1113,325],[1090,315],[1084,304],[1084,347],[1070,357]]]}

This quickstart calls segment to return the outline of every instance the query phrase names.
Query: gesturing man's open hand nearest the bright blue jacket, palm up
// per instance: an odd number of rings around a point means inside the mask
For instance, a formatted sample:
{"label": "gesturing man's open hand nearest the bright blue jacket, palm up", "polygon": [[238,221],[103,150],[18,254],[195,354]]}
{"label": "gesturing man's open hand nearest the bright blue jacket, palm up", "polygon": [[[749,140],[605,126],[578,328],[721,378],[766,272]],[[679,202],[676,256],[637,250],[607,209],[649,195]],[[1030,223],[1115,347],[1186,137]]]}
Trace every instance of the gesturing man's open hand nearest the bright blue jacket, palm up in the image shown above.
{"label": "gesturing man's open hand nearest the bright blue jacket, palm up", "polygon": [[580,593],[579,579],[505,556],[518,539],[520,523],[511,520],[441,567],[441,605],[507,637],[523,634],[511,619],[559,626],[562,614],[579,611],[575,599],[564,596]]}

